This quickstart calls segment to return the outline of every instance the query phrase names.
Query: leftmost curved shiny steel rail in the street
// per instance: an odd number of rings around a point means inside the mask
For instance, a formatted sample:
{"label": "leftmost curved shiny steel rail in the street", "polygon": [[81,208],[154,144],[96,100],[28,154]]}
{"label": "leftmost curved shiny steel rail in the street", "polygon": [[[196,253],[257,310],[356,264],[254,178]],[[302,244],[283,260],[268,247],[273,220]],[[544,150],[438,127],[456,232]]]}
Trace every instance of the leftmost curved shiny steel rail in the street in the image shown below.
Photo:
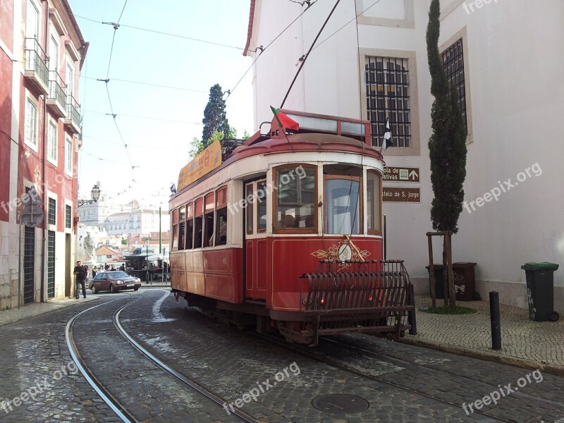
{"label": "leftmost curved shiny steel rail in the street", "polygon": [[[145,294],[145,295],[147,295],[147,294]],[[92,386],[94,391],[96,391],[97,394],[100,396],[100,398],[102,398],[102,400],[104,400],[104,403],[106,403],[111,408],[111,410],[114,411],[116,413],[116,415],[123,422],[125,422],[125,423],[137,423],[139,421],[137,419],[135,419],[135,417],[133,417],[133,415],[131,415],[130,412],[128,412],[125,409],[125,407],[123,407],[123,405],[121,405],[121,403],[119,403],[119,401],[113,395],[111,395],[111,393],[106,388],[104,388],[104,385],[98,379],[96,379],[94,374],[92,374],[92,372],[90,372],[90,369],[88,369],[84,360],[82,360],[82,357],[80,357],[80,353],[78,352],[78,348],[75,344],[75,341],[74,341],[74,338],[73,338],[73,333],[72,333],[73,323],[75,322],[75,320],[81,314],[84,314],[85,312],[88,312],[92,309],[100,307],[101,305],[106,305],[106,304],[109,304],[109,302],[114,302],[114,301],[118,301],[118,300],[121,300],[121,299],[122,298],[116,298],[116,300],[111,300],[111,301],[108,301],[108,302],[103,302],[102,304],[99,304],[99,305],[94,305],[94,307],[87,308],[87,309],[83,310],[82,312],[73,316],[66,324],[65,338],[66,338],[66,345],[67,345],[67,348],[68,348],[68,352],[71,353],[71,357],[73,359],[73,362],[75,362],[76,367],[78,367],[78,370],[80,371],[82,376],[84,376],[84,378],[86,379],[88,384],[90,386]]]}

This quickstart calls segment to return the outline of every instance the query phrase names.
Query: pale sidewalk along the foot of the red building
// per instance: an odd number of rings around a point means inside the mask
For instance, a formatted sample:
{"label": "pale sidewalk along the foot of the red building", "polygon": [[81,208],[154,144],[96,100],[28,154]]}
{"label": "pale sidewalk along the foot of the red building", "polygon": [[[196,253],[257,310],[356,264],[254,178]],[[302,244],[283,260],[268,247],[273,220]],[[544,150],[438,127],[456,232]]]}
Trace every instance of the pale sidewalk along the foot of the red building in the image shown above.
{"label": "pale sidewalk along the foot of the red building", "polygon": [[[163,287],[170,287],[170,283],[161,283],[161,282],[153,282],[152,284],[147,284],[143,282],[141,284],[141,290],[145,288],[163,288]],[[126,290],[123,293],[133,293],[133,290]],[[0,312],[0,326],[4,326],[6,324],[11,324],[19,320],[28,319],[30,317],[39,316],[41,314],[54,312],[58,309],[62,309],[65,307],[72,307],[73,305],[80,305],[84,302],[91,302],[93,300],[99,300],[99,298],[109,298],[113,294],[111,293],[98,293],[93,294],[90,289],[86,290],[86,298],[82,298],[82,294],[80,294],[80,298],[76,300],[75,298],[58,298],[56,300],[49,300],[47,302],[34,302],[28,305],[22,305],[19,309],[9,309],[3,312]],[[94,305],[94,303],[92,303]]]}

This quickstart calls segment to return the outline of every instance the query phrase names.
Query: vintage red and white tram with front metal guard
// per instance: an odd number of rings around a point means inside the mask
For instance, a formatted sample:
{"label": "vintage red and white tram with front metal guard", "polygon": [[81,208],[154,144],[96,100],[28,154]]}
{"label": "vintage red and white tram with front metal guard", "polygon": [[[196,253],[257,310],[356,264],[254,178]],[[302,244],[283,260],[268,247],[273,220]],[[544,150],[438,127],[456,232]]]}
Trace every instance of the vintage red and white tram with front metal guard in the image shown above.
{"label": "vintage red and white tram with front metal guard", "polygon": [[299,128],[275,117],[269,134],[214,142],[180,171],[173,292],[310,345],[329,333],[402,335],[409,277],[403,262],[382,261],[384,160],[370,123],[282,112]]}

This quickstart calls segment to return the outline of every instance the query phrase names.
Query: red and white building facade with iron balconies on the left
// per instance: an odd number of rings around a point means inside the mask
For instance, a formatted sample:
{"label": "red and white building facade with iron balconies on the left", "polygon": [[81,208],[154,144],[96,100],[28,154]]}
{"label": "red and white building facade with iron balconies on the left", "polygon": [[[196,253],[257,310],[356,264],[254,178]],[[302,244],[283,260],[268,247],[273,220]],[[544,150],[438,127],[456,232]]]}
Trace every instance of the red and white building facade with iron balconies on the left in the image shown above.
{"label": "red and white building facade with iron balconies on the left", "polygon": [[[71,293],[78,80],[88,43],[68,0],[6,0],[0,25],[0,309]],[[20,225],[35,188],[44,212]]]}

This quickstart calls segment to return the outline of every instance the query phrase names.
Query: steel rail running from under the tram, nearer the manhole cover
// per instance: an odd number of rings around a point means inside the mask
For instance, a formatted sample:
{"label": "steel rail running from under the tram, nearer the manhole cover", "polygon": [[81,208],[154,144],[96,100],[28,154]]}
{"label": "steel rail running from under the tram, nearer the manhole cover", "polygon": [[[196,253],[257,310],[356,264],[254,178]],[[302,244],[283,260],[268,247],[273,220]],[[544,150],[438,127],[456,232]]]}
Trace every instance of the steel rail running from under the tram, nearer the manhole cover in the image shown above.
{"label": "steel rail running from under the tram, nearer the manhole cover", "polygon": [[[302,355],[303,357],[307,357],[307,358],[309,358],[309,359],[311,359],[311,360],[314,360],[314,361],[316,361],[316,362],[320,362],[320,363],[323,363],[323,364],[327,364],[327,365],[329,365],[329,366],[331,366],[331,367],[333,367],[333,368],[339,369],[339,370],[341,370],[341,371],[343,371],[343,372],[347,372],[347,373],[349,373],[349,374],[354,374],[355,376],[360,376],[360,377],[362,377],[363,379],[368,379],[368,380],[370,380],[370,381],[376,381],[376,382],[378,382],[378,383],[380,383],[380,384],[385,384],[385,385],[387,385],[387,386],[391,386],[391,387],[393,387],[393,388],[399,389],[400,391],[405,391],[405,392],[410,393],[410,394],[415,395],[415,396],[419,396],[419,397],[422,397],[422,398],[427,398],[427,399],[429,399],[429,400],[434,400],[434,401],[436,401],[436,402],[438,402],[438,403],[441,403],[441,404],[443,404],[443,405],[449,405],[449,406],[451,406],[451,407],[455,407],[456,409],[460,409],[460,407],[461,407],[460,404],[452,403],[452,402],[450,402],[450,401],[448,401],[448,400],[444,400],[443,398],[438,398],[438,397],[436,397],[436,396],[432,396],[432,395],[429,395],[429,394],[427,394],[427,393],[422,393],[422,392],[419,392],[419,391],[417,391],[417,390],[415,390],[415,389],[407,388],[406,386],[403,386],[403,385],[400,385],[400,384],[396,384],[396,383],[393,383],[393,382],[391,382],[391,381],[386,381],[386,380],[384,380],[384,379],[382,379],[382,378],[379,378],[378,376],[374,376],[374,375],[372,375],[372,374],[367,374],[366,372],[361,372],[360,370],[353,369],[353,368],[351,368],[351,367],[346,366],[345,364],[343,364],[343,363],[341,363],[341,362],[338,362],[338,360],[333,360],[333,359],[331,359],[331,358],[329,358],[329,357],[320,357],[319,354],[309,353],[309,352],[307,352],[307,351],[305,351],[305,350],[302,350],[302,349],[299,348],[299,347],[297,348],[295,345],[293,345],[293,344],[291,344],[291,343],[288,343],[288,342],[286,342],[286,341],[281,340],[280,338],[276,338],[276,337],[274,337],[274,336],[264,335],[264,334],[260,334],[260,335],[259,335],[258,333],[257,333],[257,334],[252,334],[252,336],[253,336],[253,337],[257,337],[257,338],[259,338],[259,339],[262,339],[263,341],[266,341],[266,342],[269,342],[269,343],[274,343],[274,344],[276,344],[277,346],[279,346],[279,347],[281,347],[281,348],[284,348],[284,349],[286,349],[286,350],[289,350],[289,351],[291,351],[291,352],[293,352],[293,353],[296,353],[296,354],[298,354],[298,355]],[[347,346],[348,346],[348,344],[343,344],[343,345],[347,345]],[[515,423],[513,420],[503,419],[503,418],[501,418],[501,417],[496,417],[496,416],[493,416],[493,415],[489,415],[489,414],[487,414],[487,413],[485,413],[485,412],[480,412],[479,410],[474,410],[474,413],[473,413],[473,414],[474,414],[474,415],[479,415],[479,416],[485,417],[485,418],[487,418],[487,419],[495,420],[496,422]]]}

